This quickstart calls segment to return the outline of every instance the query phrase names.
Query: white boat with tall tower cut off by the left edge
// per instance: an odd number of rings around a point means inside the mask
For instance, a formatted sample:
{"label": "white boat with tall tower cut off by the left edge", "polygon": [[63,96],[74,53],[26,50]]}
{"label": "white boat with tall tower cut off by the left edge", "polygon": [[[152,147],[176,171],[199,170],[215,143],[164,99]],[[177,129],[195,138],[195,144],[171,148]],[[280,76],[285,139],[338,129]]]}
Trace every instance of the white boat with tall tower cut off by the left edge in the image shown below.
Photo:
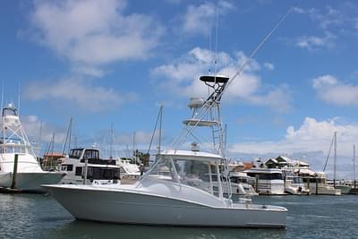
{"label": "white boat with tall tower cut off by the left edge", "polygon": [[42,170],[13,104],[3,108],[1,124],[0,187],[43,192],[41,184],[60,182],[64,173]]}

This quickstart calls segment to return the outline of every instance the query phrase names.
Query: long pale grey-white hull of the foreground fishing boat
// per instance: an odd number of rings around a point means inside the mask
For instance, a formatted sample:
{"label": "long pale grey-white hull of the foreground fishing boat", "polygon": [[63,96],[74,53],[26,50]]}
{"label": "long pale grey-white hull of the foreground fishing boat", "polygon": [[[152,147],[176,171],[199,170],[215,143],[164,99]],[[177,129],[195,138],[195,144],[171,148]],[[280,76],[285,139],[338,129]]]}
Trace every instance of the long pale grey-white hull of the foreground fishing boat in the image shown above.
{"label": "long pale grey-white hull of the foreground fishing boat", "polygon": [[78,219],[162,226],[286,226],[286,209],[275,206],[234,203],[233,207],[210,207],[134,192],[126,187],[111,190],[90,185],[47,185],[45,188]]}

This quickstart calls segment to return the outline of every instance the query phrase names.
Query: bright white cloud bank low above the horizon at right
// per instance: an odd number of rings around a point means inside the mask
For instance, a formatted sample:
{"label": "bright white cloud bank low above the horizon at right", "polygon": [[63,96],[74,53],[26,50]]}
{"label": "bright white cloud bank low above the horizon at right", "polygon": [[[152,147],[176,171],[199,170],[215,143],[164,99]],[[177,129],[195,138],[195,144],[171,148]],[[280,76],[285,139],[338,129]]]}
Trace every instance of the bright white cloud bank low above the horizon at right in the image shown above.
{"label": "bright white cloud bank low above the horizon at right", "polygon": [[338,132],[337,154],[351,156],[353,144],[358,139],[358,124],[339,124],[339,118],[317,121],[306,117],[298,129],[288,126],[285,138],[279,141],[234,143],[229,151],[248,154],[276,153],[277,155],[322,151],[327,155],[334,132]]}

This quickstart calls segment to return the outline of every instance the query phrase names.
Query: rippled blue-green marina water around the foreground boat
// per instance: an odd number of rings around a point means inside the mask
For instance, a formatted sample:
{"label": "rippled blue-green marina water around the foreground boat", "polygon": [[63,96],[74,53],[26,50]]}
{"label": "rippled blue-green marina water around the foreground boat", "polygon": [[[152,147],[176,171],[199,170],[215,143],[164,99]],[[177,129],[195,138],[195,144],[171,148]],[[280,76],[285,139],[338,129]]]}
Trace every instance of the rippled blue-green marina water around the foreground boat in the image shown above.
{"label": "rippled blue-green marina water around the foreground boat", "polygon": [[256,197],[288,209],[286,229],[128,226],[77,221],[51,196],[0,194],[0,238],[358,238],[358,196]]}

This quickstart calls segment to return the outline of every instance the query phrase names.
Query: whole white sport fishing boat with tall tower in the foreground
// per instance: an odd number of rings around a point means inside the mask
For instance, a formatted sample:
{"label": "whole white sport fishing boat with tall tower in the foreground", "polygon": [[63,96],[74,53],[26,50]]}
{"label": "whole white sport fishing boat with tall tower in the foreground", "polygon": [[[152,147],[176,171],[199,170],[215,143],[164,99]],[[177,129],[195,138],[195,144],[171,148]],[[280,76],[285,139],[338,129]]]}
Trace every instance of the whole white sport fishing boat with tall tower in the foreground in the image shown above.
{"label": "whole white sport fishing boat with tall tower in the foreground", "polygon": [[[197,149],[162,151],[156,163],[135,184],[44,187],[78,219],[166,226],[286,227],[285,208],[244,200],[233,202],[231,193],[224,197],[223,184],[228,188],[231,184],[229,180],[220,180],[228,172],[220,98],[228,78],[202,76],[200,80],[212,89],[212,94],[202,101],[198,114],[184,122],[183,132],[189,135],[196,126],[209,126],[218,136],[213,137],[216,154]],[[205,115],[209,115],[209,120],[203,119]],[[216,175],[217,193],[212,184],[209,192],[197,186],[203,175]]]}

